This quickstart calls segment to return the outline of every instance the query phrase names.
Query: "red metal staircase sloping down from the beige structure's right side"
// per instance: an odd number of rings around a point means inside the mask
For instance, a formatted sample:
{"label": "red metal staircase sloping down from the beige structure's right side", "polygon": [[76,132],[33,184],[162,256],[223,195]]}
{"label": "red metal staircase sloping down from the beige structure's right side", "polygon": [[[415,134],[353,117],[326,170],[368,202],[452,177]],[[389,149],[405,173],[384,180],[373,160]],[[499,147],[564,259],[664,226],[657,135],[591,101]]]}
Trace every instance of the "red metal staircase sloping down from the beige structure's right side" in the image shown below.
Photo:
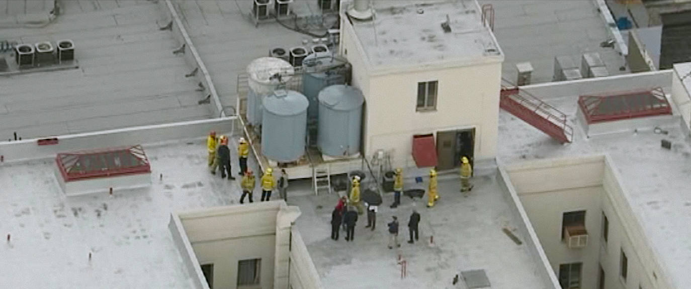
{"label": "red metal staircase sloping down from the beige structure's right side", "polygon": [[500,91],[499,106],[515,117],[529,123],[536,129],[547,133],[562,144],[571,142],[574,129],[567,123],[567,116],[538,97],[520,90],[518,86],[504,86]]}

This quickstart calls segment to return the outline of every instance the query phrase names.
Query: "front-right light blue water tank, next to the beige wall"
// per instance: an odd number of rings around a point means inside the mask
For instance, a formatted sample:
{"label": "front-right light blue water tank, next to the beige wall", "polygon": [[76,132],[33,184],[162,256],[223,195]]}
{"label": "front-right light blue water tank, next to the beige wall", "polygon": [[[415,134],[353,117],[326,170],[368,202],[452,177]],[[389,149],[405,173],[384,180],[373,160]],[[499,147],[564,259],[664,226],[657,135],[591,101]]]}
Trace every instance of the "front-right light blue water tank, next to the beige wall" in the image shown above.
{"label": "front-right light blue water tank, next to the beige wall", "polygon": [[352,156],[360,150],[362,92],[337,84],[319,93],[317,146],[327,156]]}

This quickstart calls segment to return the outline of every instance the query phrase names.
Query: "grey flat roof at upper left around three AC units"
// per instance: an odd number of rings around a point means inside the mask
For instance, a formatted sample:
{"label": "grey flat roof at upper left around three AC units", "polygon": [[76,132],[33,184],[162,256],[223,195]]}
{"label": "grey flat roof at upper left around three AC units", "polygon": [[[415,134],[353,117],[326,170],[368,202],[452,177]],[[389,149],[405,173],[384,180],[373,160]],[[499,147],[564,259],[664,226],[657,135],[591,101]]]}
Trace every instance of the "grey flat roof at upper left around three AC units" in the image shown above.
{"label": "grey flat roof at upper left around three AC units", "polygon": [[[0,4],[15,6],[15,2]],[[27,5],[30,3],[26,1]],[[1,5],[0,5],[1,6]],[[0,76],[0,140],[100,131],[209,117],[192,68],[159,30],[152,1],[59,1],[42,28],[3,28],[0,40],[71,39],[79,69]],[[8,60],[9,55],[6,55]]]}

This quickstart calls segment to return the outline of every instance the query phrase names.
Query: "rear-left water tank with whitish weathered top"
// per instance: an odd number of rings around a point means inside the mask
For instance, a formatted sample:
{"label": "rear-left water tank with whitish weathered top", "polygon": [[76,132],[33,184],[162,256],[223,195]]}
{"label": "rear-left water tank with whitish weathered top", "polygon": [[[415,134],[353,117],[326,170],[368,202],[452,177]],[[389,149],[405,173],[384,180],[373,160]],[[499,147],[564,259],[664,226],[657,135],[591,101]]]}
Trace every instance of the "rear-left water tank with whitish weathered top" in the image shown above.
{"label": "rear-left water tank with whitish weathered top", "polygon": [[262,100],[285,84],[295,70],[290,63],[276,57],[254,59],[247,66],[247,122],[258,126],[262,122]]}

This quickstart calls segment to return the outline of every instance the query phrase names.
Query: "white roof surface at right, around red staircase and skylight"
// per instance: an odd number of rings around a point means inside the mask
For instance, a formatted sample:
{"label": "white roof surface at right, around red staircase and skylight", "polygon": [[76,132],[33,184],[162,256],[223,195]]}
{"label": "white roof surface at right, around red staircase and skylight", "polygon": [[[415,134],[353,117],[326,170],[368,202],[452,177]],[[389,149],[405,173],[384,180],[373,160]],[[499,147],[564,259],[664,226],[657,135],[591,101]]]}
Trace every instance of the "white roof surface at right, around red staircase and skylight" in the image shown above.
{"label": "white roof surface at right, around red staircase and skylight", "polygon": [[[634,214],[676,288],[691,288],[691,146],[680,128],[669,134],[633,131],[584,138],[574,122],[578,97],[546,99],[569,115],[574,142],[559,145],[541,131],[505,111],[500,113],[498,159],[518,162],[539,158],[609,153],[622,176]],[[672,149],[660,146],[672,141]]]}

